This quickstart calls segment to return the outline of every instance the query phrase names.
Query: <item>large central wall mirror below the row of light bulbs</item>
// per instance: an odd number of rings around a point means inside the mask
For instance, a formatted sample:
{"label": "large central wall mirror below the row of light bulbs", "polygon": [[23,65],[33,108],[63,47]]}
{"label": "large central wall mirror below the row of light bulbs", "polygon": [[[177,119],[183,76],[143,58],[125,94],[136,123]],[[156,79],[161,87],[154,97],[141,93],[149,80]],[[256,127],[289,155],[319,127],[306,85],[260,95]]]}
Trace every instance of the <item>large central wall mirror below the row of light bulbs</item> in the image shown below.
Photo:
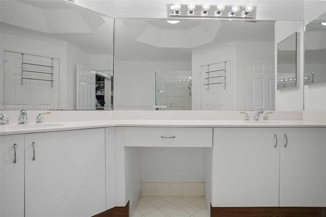
{"label": "large central wall mirror below the row of light bulbs", "polygon": [[274,22],[173,21],[115,20],[115,109],[275,110]]}

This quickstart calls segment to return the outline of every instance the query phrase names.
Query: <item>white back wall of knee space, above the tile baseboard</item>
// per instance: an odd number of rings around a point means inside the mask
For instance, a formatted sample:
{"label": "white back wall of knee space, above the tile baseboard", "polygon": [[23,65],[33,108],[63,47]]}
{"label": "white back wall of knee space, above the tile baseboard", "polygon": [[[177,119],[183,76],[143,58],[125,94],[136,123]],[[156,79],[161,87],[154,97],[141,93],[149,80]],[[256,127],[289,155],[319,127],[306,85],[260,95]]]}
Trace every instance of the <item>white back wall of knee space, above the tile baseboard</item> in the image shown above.
{"label": "white back wall of knee space, above the tile baseboard", "polygon": [[203,148],[141,148],[142,182],[203,182]]}

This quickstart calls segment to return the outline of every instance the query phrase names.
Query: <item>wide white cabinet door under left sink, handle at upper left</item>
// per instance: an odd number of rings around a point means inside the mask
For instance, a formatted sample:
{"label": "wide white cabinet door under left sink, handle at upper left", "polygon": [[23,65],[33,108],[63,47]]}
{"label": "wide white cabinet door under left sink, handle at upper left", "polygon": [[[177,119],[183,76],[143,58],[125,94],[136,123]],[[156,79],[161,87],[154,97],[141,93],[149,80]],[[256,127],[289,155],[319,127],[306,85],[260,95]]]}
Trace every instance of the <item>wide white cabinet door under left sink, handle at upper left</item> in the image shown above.
{"label": "wide white cabinet door under left sink, handle at upper left", "polygon": [[26,134],[25,217],[103,212],[104,142],[104,128]]}

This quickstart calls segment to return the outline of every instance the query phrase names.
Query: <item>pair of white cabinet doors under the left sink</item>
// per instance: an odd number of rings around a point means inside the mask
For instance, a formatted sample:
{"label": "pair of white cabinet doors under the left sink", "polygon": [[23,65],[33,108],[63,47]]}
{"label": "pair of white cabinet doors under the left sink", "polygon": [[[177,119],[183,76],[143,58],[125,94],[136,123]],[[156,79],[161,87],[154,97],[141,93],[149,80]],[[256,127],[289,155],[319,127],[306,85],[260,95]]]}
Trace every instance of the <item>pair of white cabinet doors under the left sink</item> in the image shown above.
{"label": "pair of white cabinet doors under the left sink", "polygon": [[104,128],[5,135],[0,147],[2,217],[105,211]]}

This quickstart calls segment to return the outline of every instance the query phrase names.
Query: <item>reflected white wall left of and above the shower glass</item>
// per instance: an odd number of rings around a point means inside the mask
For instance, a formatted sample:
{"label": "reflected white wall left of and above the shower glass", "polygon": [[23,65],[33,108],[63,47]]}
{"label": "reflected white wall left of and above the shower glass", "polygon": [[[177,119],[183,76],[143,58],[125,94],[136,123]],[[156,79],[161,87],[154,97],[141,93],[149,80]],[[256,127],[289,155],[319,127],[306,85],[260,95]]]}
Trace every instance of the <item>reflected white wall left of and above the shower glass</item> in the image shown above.
{"label": "reflected white wall left of and above the shower glass", "polygon": [[115,61],[114,109],[153,110],[155,70],[191,71],[191,62]]}

